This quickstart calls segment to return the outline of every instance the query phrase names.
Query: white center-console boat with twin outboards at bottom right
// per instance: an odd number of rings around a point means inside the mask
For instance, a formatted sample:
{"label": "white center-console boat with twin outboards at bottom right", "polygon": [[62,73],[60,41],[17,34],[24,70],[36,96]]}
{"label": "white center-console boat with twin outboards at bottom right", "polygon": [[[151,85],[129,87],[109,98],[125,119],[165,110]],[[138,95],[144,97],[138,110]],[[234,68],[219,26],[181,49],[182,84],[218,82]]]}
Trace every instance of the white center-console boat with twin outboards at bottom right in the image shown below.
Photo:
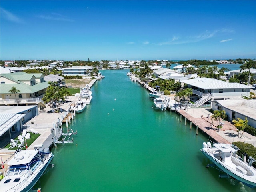
{"label": "white center-console boat with twin outboards at bottom right", "polygon": [[207,142],[207,144],[204,142],[201,149],[206,157],[227,174],[226,176],[231,176],[243,184],[254,188],[256,187],[256,170],[251,165],[255,160],[249,157],[250,162],[248,164],[240,160],[236,157],[238,150],[232,144],[218,143],[211,146],[210,142]]}

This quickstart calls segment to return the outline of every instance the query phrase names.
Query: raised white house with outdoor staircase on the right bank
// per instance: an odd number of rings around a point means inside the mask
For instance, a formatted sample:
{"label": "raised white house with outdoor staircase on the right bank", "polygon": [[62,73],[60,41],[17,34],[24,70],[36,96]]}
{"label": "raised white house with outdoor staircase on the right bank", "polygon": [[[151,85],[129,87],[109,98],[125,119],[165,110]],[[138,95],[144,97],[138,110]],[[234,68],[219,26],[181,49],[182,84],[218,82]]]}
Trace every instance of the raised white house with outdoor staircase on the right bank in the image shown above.
{"label": "raised white house with outdoor staircase on the right bank", "polygon": [[250,95],[250,89],[252,88],[240,83],[229,83],[206,77],[180,80],[180,82],[186,85],[183,88],[192,89],[192,96],[199,98],[199,100],[195,102],[196,107],[209,100],[225,100]]}

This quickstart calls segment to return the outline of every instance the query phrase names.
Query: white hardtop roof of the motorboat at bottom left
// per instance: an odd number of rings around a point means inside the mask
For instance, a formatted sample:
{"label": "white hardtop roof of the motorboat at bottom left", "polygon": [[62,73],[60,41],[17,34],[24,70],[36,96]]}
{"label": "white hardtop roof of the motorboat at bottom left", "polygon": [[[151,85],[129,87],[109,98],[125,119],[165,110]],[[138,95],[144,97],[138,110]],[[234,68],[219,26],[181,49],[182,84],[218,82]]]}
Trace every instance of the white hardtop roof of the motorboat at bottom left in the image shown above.
{"label": "white hardtop roof of the motorboat at bottom left", "polygon": [[8,165],[27,164],[32,161],[34,156],[38,153],[36,150],[21,150],[7,163]]}

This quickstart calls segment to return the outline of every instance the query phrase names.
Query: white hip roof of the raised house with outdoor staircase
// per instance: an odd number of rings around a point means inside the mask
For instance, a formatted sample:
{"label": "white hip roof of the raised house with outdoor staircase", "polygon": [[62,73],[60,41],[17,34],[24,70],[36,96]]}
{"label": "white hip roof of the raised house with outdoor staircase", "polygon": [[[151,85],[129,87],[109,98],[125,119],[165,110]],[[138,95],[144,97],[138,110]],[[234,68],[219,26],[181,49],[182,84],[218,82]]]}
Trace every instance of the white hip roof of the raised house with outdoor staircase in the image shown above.
{"label": "white hip roof of the raised house with outdoor staircase", "polygon": [[251,88],[250,86],[240,83],[229,83],[222,80],[212,78],[194,78],[188,80],[181,80],[180,82],[186,83],[202,89],[232,89],[232,88]]}

